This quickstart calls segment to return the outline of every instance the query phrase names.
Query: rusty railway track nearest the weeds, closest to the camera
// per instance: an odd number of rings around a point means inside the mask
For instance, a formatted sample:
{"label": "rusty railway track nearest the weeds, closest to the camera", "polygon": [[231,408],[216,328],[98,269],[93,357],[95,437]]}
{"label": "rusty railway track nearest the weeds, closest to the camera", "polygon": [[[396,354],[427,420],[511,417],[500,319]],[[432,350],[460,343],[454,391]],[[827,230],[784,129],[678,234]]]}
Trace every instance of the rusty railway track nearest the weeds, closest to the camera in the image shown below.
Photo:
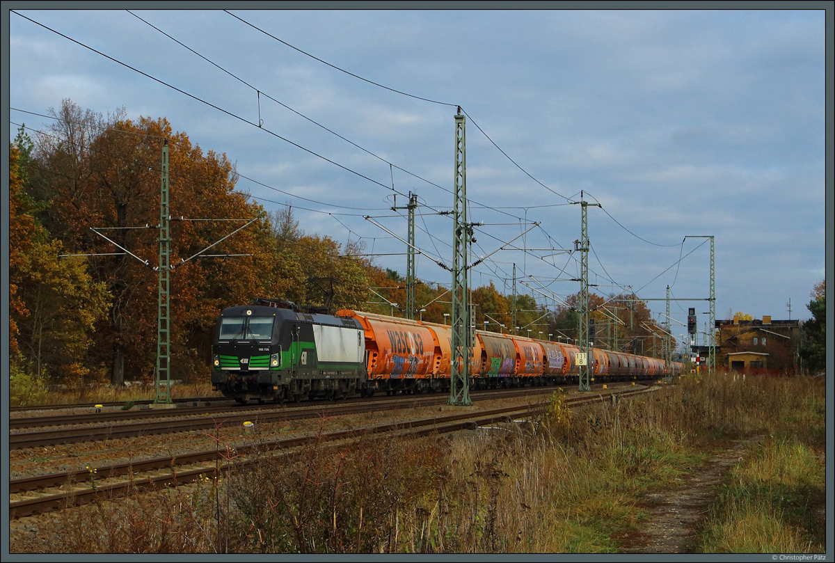
{"label": "rusty railway track nearest the weeds, closest to the camera", "polygon": [[[565,403],[570,408],[576,408],[583,404],[611,400],[612,395],[619,398],[629,397],[650,390],[644,387],[612,388],[608,392],[595,395],[566,398]],[[132,461],[128,464],[100,466],[83,472],[72,471],[12,479],[9,483],[9,493],[12,497],[9,502],[9,517],[16,519],[48,510],[59,510],[68,505],[86,504],[97,499],[124,495],[132,489],[155,489],[189,484],[201,477],[215,478],[230,468],[230,464],[226,462],[230,453],[235,455],[235,469],[241,469],[256,463],[255,460],[246,459],[247,455],[256,451],[267,450],[281,455],[292,455],[292,449],[317,440],[337,442],[372,435],[397,434],[401,437],[417,438],[433,433],[448,434],[514,418],[529,417],[541,412],[543,406],[544,402],[539,402],[523,406],[490,408],[478,412],[449,413],[402,423],[377,424],[362,429],[261,441],[258,444],[235,447],[232,452],[226,449],[211,449]],[[364,408],[367,410],[369,406],[366,404]]]}

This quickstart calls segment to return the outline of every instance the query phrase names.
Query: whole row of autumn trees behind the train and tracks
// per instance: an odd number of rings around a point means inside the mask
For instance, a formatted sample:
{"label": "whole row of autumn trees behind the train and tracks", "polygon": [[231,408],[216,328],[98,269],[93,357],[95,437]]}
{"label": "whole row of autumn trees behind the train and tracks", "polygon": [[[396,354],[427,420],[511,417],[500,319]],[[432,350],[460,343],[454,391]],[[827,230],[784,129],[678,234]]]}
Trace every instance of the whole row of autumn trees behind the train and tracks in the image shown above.
{"label": "whole row of autumn trees behind the train and tracks", "polygon": [[[153,380],[166,139],[175,378],[208,378],[215,317],[253,297],[406,316],[405,280],[397,271],[375,266],[361,242],[342,245],[306,233],[289,205],[264,210],[235,190],[235,165],[225,154],[192,145],[166,119],[133,121],[124,109],[105,118],[70,100],[50,113],[55,121],[48,130],[32,139],[22,127],[9,149],[12,377],[115,385]],[[181,263],[251,219],[257,221],[206,253],[224,256]],[[502,294],[490,282],[473,289],[471,299],[478,329],[577,337],[576,296],[549,310],[529,295]],[[653,335],[660,328],[645,303],[634,299],[592,294],[596,337],[628,352],[657,352],[660,337]],[[418,282],[413,317],[448,322],[449,302],[442,285]]]}

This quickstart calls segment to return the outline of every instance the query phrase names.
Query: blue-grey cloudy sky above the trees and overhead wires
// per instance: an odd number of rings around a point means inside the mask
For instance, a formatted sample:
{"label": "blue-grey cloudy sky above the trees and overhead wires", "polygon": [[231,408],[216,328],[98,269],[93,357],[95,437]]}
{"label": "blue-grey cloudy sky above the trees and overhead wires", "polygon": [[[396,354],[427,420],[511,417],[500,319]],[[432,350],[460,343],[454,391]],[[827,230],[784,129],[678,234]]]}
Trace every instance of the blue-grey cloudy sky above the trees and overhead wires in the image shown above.
{"label": "blue-grey cloudy sky above the trees and overhead wires", "polygon": [[718,319],[808,318],[825,275],[822,9],[11,8],[12,136],[46,129],[33,114],[63,99],[164,117],[235,162],[267,210],[289,204],[307,233],[361,240],[402,273],[387,231],[405,238],[406,211],[390,208],[416,193],[426,282],[451,281],[436,261],[451,263],[438,212],[453,205],[457,106],[483,223],[473,253],[534,227],[476,266],[474,287],[509,292],[515,264],[518,291],[543,304],[578,292],[579,254],[560,249],[580,236],[581,194],[600,204],[591,291],[670,286],[697,300],[672,302],[675,322],[688,307],[707,321],[710,243],[692,237],[715,237]]}

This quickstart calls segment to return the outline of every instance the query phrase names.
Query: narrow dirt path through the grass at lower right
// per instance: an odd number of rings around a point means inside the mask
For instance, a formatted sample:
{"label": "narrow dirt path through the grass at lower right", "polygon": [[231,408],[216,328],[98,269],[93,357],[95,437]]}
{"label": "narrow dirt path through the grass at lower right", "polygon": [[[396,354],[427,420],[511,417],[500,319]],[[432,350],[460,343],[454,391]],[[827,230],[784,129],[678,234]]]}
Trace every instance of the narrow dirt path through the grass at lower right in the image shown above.
{"label": "narrow dirt path through the grass at lower right", "polygon": [[646,495],[640,507],[649,515],[643,527],[618,538],[620,553],[692,553],[696,525],[704,517],[727,472],[739,463],[746,442],[736,442],[664,492]]}

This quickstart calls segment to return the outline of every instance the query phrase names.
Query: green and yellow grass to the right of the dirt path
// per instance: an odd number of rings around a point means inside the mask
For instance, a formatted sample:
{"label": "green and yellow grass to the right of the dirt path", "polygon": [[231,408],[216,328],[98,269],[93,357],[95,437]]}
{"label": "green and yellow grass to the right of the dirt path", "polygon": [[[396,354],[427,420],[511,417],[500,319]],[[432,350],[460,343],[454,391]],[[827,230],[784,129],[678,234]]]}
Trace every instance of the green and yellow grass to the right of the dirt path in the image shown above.
{"label": "green and yellow grass to the right of the dirt path", "polygon": [[[749,380],[750,381],[750,380]],[[751,432],[762,438],[731,469],[702,526],[705,553],[826,551],[826,405],[822,378],[765,378],[756,385],[771,416]]]}

